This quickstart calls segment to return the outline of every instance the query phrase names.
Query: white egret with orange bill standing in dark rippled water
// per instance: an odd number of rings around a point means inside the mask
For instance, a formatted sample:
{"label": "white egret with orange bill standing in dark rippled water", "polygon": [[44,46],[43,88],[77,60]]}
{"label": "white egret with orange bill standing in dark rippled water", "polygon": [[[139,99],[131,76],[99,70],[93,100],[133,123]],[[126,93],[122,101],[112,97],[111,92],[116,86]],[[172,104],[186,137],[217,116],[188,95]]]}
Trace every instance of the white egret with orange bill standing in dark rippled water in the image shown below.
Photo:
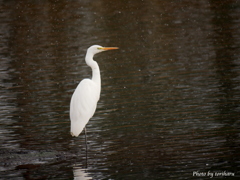
{"label": "white egret with orange bill standing in dark rippled water", "polygon": [[[97,53],[118,49],[93,45],[88,48],[85,61],[92,68],[92,79],[83,79],[75,89],[70,102],[71,135],[78,136],[93,116],[100,98],[101,76],[98,63],[93,60]],[[85,127],[86,138],[86,127]]]}

